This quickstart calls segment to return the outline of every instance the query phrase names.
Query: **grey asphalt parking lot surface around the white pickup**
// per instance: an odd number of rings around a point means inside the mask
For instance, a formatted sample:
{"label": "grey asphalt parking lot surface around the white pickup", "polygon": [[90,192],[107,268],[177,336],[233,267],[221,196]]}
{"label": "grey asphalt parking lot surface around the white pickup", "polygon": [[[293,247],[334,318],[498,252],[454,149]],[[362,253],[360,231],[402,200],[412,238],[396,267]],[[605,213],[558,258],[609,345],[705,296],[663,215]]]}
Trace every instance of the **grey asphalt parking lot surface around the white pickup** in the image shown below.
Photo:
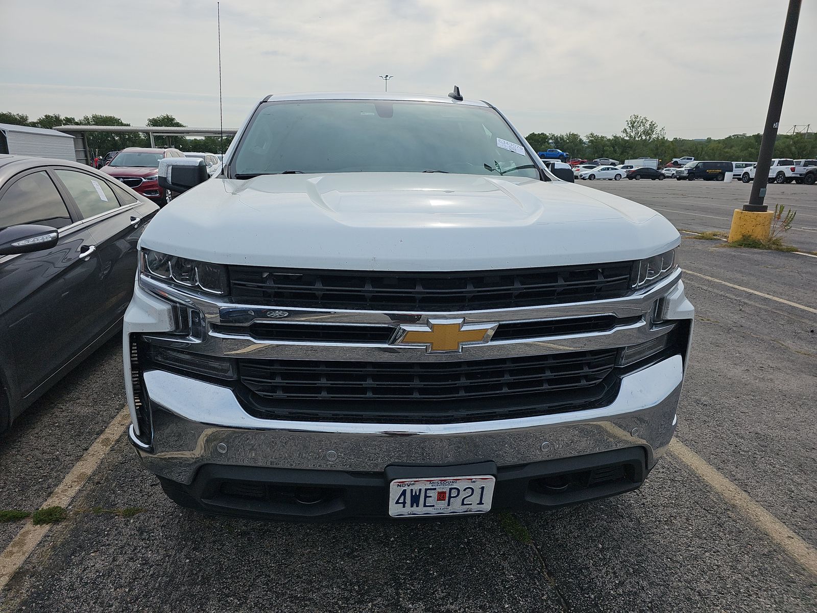
{"label": "grey asphalt parking lot surface around the white pickup", "polygon": [[[691,231],[727,230],[749,191],[584,185]],[[798,210],[785,242],[817,250],[817,188],[769,191]],[[29,521],[0,523],[0,610],[815,611],[817,259],[688,235],[681,263],[696,321],[677,442],[641,490],[542,514],[296,525],[176,508],[126,436],[100,439],[125,405],[114,339],[0,436],[0,510],[87,477],[25,562],[10,561]],[[98,466],[75,469],[89,448]]]}

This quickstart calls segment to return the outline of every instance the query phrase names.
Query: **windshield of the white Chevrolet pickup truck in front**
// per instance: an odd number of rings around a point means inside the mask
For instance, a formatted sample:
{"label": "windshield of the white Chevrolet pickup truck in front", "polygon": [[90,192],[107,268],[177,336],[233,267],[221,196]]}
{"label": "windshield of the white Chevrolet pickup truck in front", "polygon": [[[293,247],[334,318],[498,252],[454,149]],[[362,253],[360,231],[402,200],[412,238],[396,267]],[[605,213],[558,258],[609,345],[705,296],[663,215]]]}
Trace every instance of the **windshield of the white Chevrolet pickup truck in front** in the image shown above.
{"label": "windshield of the white Chevrolet pickup truck in front", "polygon": [[417,101],[262,105],[232,163],[234,178],[285,172],[457,172],[539,178],[493,109]]}

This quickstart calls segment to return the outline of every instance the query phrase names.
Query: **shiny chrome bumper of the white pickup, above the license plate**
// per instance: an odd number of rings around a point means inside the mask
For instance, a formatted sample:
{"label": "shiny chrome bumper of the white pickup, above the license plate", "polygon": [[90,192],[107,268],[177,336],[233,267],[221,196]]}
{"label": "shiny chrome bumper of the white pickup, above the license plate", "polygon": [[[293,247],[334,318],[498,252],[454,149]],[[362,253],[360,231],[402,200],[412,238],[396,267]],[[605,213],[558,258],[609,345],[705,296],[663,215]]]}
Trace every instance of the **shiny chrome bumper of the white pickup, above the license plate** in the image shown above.
{"label": "shiny chrome bumper of the white pickup, above the license plate", "polygon": [[190,484],[204,464],[382,472],[393,463],[499,467],[640,445],[652,468],[672,439],[681,356],[624,377],[600,409],[480,423],[418,425],[286,422],[247,414],[226,387],[160,370],[145,373],[152,447],[130,437],[145,468]]}

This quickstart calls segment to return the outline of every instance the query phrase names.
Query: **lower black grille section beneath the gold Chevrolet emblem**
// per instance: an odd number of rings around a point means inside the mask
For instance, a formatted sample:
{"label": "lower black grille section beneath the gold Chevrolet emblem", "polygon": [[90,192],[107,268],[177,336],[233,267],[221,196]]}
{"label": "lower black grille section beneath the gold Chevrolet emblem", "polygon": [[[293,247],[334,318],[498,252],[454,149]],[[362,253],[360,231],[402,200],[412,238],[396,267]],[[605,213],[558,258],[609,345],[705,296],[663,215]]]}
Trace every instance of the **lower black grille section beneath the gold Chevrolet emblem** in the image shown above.
{"label": "lower black grille section beneath the gold Chevrolet emblem", "polygon": [[[605,399],[618,351],[435,363],[241,359],[244,396],[277,418],[474,421],[585,409]],[[444,402],[440,402],[444,400]]]}

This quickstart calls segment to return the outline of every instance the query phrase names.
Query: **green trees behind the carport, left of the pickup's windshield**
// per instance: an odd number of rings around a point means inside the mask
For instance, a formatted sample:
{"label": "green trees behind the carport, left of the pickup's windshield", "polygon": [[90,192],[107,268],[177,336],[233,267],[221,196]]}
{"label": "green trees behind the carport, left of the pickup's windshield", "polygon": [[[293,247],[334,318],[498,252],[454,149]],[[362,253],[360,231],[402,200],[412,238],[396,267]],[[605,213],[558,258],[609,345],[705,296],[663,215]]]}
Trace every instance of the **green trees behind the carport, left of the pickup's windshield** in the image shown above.
{"label": "green trees behind the carport, left of the pickup's windshield", "polygon": [[[46,128],[53,130],[58,126],[129,126],[130,123],[114,115],[91,114],[82,119],[60,114],[45,114],[38,119],[29,119],[22,113],[0,112],[0,123],[12,123],[17,126],[31,128]],[[171,114],[151,117],[145,122],[146,126],[154,128],[187,128]],[[203,138],[185,138],[185,136],[156,136],[154,142],[157,147],[172,146],[181,151],[203,151],[207,153],[224,153],[232,135],[225,135],[223,141],[219,136],[205,136]],[[92,154],[104,156],[109,151],[123,150],[125,147],[150,147],[150,137],[145,132],[87,132],[88,148]]]}

